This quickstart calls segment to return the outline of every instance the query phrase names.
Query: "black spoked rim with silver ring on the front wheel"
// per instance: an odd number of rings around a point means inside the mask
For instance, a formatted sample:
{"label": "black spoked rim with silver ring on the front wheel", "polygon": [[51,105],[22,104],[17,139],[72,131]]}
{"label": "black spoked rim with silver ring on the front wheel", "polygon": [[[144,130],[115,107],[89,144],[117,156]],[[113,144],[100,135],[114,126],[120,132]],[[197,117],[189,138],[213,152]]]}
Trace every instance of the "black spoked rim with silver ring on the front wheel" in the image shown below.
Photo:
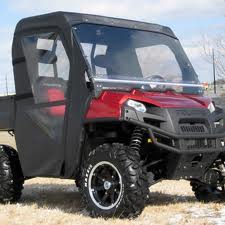
{"label": "black spoked rim with silver ring on the front wheel", "polygon": [[110,162],[99,162],[91,169],[88,190],[97,207],[103,210],[114,208],[122,195],[120,172]]}

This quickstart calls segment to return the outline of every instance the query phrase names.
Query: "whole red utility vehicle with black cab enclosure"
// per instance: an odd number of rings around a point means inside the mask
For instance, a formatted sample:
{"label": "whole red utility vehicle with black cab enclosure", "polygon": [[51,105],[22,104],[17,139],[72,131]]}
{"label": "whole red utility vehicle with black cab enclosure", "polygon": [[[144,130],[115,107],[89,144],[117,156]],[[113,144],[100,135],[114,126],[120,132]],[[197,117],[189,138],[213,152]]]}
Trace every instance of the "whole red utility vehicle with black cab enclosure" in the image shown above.
{"label": "whole red utility vehicle with black cab enclosure", "polygon": [[224,112],[170,28],[55,12],[18,23],[12,58],[0,130],[17,150],[1,145],[1,202],[34,177],[76,180],[91,216],[139,215],[163,179],[224,198]]}

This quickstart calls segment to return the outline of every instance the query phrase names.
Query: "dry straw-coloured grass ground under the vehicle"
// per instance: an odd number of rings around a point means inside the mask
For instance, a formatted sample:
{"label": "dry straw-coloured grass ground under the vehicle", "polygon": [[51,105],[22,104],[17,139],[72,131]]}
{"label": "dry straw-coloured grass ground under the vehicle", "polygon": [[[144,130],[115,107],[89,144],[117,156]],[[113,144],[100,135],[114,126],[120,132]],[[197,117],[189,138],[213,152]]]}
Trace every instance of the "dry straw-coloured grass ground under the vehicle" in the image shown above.
{"label": "dry straw-coloured grass ground under the vehicle", "polygon": [[[0,137],[0,143],[9,138]],[[12,138],[9,141],[13,144]],[[26,181],[19,203],[0,205],[0,225],[225,224],[224,204],[197,202],[187,181],[163,181],[150,190],[150,200],[137,219],[93,219],[81,206],[74,181],[36,178]]]}

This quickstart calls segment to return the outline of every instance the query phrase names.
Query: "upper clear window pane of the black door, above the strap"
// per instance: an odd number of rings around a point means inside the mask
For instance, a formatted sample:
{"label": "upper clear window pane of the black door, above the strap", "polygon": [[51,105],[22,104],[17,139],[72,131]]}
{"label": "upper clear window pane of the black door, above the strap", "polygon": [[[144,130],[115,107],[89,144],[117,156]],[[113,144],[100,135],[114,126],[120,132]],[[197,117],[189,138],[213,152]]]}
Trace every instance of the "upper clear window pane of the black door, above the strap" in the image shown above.
{"label": "upper clear window pane of the black door, above the strap", "polygon": [[22,44],[35,103],[65,100],[70,62],[60,36],[26,36]]}

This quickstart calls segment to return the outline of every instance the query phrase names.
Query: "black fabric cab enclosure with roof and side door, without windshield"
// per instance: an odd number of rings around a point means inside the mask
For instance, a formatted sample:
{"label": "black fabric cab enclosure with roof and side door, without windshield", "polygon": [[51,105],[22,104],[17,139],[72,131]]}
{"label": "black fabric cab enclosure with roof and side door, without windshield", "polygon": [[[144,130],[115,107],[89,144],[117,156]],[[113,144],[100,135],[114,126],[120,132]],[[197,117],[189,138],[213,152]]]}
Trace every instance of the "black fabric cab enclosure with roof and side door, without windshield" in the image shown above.
{"label": "black fabric cab enclosure with roof and side door, without windshield", "polygon": [[[16,120],[10,123],[15,122],[13,129],[25,176],[71,177],[79,165],[82,125],[93,96],[85,81],[88,67],[71,29],[80,23],[174,36],[169,28],[160,25],[77,13],[56,12],[21,20],[12,47]],[[64,93],[46,99],[44,93],[49,86],[55,88],[56,94],[57,88],[64,89]],[[63,115],[48,113],[60,107],[65,108]]]}

